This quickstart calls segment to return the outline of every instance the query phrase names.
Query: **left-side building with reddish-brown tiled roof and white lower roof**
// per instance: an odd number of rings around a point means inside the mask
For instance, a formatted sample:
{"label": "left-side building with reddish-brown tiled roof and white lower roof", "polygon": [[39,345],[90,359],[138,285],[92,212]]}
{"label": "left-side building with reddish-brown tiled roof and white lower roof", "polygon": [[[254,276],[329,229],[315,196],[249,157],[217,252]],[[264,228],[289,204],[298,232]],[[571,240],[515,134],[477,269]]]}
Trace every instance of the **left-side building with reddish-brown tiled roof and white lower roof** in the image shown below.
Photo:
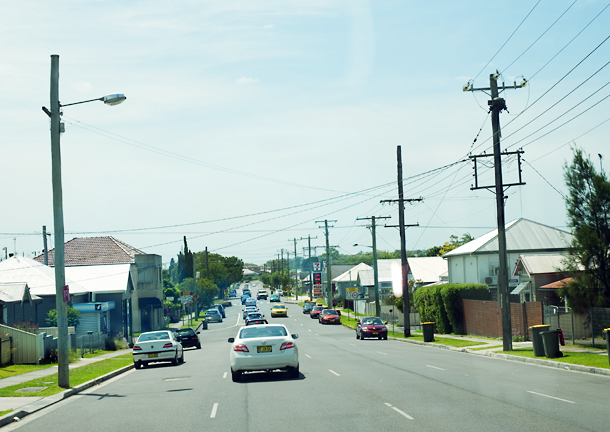
{"label": "left-side building with reddish-brown tiled roof and white lower roof", "polygon": [[[44,255],[34,259],[43,263]],[[53,267],[54,249],[48,253],[48,262]],[[74,295],[74,307],[84,314],[85,324],[109,334],[131,335],[163,327],[161,264],[161,256],[111,236],[65,243],[66,277],[85,287],[84,293]]]}

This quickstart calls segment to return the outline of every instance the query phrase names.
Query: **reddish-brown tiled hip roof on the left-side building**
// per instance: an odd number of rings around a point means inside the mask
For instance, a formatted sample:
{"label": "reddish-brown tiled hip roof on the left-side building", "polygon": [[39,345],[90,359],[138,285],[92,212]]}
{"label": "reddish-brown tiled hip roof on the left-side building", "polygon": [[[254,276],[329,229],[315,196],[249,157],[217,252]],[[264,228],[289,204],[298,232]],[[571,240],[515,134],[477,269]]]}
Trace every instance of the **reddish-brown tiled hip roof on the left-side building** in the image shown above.
{"label": "reddish-brown tiled hip roof on the left-side building", "polygon": [[[65,265],[130,264],[134,256],[144,254],[114,237],[77,237],[65,243]],[[55,249],[49,251],[49,266],[54,266]],[[34,258],[44,263],[44,255]]]}

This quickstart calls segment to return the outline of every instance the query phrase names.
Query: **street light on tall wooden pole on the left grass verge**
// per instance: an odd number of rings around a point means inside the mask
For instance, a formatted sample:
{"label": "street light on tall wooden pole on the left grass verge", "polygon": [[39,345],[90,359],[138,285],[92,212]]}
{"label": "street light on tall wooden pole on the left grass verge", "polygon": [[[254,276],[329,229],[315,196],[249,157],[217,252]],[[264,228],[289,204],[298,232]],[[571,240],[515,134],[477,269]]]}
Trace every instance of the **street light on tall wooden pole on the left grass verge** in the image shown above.
{"label": "street light on tall wooden pole on the left grass verge", "polygon": [[60,108],[86,102],[102,101],[107,105],[118,105],[126,97],[112,94],[97,99],[62,105],[59,102],[59,55],[51,55],[51,110],[42,110],[51,118],[51,176],[53,181],[53,224],[55,228],[55,307],[57,310],[57,385],[70,387],[70,353],[68,347],[68,315],[66,303],[70,294],[66,285],[65,251],[64,251],[64,211],[61,188],[61,152],[59,146],[61,134]]}

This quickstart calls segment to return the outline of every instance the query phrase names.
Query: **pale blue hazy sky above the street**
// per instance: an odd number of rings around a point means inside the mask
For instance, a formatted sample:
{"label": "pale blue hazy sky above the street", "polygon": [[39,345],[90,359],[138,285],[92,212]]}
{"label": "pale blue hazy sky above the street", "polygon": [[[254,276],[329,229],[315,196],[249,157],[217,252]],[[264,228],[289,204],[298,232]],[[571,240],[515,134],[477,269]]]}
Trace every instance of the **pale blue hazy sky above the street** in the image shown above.
{"label": "pale blue hazy sky above the street", "polygon": [[[28,257],[53,233],[50,56],[63,108],[65,240],[114,236],[168,264],[189,249],[263,264],[278,254],[400,248],[478,237],[495,195],[471,190],[490,154],[490,75],[522,149],[506,221],[569,230],[573,146],[610,167],[610,2],[198,0],[0,3],[0,249]],[[607,86],[607,87],[606,87]],[[476,141],[475,141],[476,139]],[[601,155],[601,157],[599,156]],[[504,183],[518,182],[514,155]],[[492,158],[478,159],[493,185]],[[305,239],[305,240],[303,240]],[[54,237],[50,237],[50,248]],[[358,244],[358,246],[354,246]],[[284,250],[284,252],[282,252]]]}

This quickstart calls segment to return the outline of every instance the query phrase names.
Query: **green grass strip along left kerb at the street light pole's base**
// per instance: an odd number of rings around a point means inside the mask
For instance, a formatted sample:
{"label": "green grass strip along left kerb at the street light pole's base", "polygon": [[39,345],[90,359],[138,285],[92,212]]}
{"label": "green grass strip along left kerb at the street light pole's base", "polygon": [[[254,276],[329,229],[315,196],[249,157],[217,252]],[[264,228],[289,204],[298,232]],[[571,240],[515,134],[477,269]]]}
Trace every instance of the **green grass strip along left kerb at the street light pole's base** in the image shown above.
{"label": "green grass strip along left kerb at the street light pole's base", "polygon": [[[124,354],[119,357],[113,357],[106,360],[101,360],[86,366],[81,366],[75,369],[70,369],[70,386],[75,387],[95,378],[99,378],[114,370],[133,363],[131,354]],[[39,392],[18,392],[16,390],[24,387],[47,387]],[[57,374],[27,381],[14,386],[9,386],[0,389],[0,397],[24,397],[24,396],[40,396],[46,397],[64,391],[65,389],[57,385]]]}

